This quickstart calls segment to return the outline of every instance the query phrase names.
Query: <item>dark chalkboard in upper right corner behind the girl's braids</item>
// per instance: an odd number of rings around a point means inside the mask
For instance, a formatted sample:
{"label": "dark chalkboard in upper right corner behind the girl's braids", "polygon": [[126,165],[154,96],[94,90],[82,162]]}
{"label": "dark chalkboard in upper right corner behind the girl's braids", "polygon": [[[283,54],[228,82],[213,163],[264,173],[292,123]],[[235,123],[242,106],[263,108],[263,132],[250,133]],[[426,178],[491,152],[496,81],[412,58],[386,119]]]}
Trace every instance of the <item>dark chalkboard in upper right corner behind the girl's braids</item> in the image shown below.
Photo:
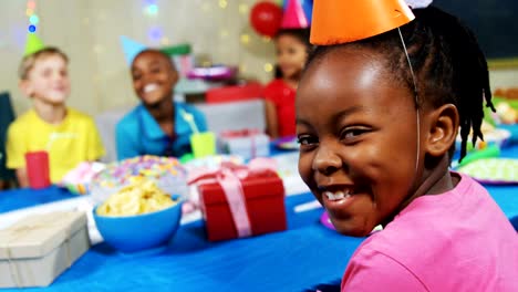
{"label": "dark chalkboard in upper right corner behind the girl's braids", "polygon": [[435,0],[477,35],[490,61],[518,60],[518,0]]}

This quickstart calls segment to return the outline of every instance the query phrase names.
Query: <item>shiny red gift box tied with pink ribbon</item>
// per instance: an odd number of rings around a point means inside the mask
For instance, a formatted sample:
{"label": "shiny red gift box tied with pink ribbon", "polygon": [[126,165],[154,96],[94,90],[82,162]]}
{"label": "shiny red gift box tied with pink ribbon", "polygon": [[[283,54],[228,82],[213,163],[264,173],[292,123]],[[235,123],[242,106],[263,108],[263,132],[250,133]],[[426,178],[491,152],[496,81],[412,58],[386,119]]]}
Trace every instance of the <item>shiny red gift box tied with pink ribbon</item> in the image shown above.
{"label": "shiny red gift box tied with pink ribbon", "polygon": [[[228,175],[227,170],[227,174],[215,175],[222,176],[220,179],[205,179],[205,181],[198,182],[201,211],[207,237],[210,241],[257,236],[287,229],[284,188],[277,173],[271,170],[250,171],[245,176],[238,174],[234,177],[234,184],[237,184],[234,187],[242,190],[241,198],[238,198],[238,201],[241,200],[242,206],[239,206],[239,204],[237,206],[240,211],[245,210],[240,218],[239,216],[236,217],[235,200],[230,199],[229,202],[228,181],[224,181],[227,180],[225,176]],[[248,232],[245,233],[240,232],[242,229],[238,227],[244,221],[248,222]]]}

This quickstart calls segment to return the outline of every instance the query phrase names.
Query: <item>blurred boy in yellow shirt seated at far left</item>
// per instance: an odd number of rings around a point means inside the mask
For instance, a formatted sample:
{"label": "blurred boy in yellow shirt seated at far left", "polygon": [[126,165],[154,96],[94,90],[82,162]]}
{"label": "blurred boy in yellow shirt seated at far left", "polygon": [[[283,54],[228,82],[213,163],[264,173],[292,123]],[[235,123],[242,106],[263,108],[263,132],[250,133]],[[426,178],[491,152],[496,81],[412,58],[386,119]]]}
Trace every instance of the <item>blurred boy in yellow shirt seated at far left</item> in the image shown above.
{"label": "blurred boy in yellow shirt seated at far left", "polygon": [[28,187],[25,154],[46,150],[51,182],[55,184],[82,161],[104,155],[93,119],[65,105],[70,94],[68,56],[56,48],[25,55],[20,65],[20,88],[32,98],[32,109],[8,129],[7,166]]}

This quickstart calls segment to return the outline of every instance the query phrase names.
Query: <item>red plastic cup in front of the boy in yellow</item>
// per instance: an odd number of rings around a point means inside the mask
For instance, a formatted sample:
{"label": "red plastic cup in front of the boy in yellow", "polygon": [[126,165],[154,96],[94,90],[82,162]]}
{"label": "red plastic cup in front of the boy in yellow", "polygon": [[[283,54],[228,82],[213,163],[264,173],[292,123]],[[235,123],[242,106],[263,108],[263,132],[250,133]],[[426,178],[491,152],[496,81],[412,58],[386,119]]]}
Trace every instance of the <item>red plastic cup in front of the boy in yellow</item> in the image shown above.
{"label": "red plastic cup in front of the boy in yellow", "polygon": [[29,186],[33,189],[46,188],[51,185],[49,174],[49,154],[46,152],[30,152],[25,154],[27,176]]}

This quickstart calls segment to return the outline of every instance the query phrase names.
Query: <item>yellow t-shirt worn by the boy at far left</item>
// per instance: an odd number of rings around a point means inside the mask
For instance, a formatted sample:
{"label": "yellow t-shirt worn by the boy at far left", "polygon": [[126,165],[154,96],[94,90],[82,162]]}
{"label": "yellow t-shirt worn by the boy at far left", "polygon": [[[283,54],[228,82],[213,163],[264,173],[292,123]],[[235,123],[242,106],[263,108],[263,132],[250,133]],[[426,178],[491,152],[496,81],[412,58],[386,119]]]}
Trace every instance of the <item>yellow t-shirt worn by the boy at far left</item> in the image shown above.
{"label": "yellow t-shirt worn by the boy at far left", "polygon": [[104,155],[104,147],[93,119],[73,108],[58,125],[52,125],[30,109],[8,129],[7,167],[25,168],[25,153],[49,153],[50,178],[53,184],[82,161],[93,161]]}

